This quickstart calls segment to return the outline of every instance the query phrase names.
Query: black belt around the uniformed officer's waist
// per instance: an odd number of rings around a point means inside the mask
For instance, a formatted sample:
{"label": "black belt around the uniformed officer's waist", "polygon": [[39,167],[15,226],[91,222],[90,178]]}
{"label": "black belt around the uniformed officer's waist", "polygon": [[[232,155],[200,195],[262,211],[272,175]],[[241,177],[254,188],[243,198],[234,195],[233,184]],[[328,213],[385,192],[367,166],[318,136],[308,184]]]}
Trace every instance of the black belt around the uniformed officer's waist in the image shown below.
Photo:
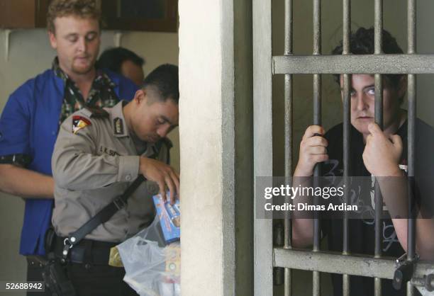
{"label": "black belt around the uniformed officer's waist", "polygon": [[[55,237],[54,253],[62,258],[66,237]],[[110,249],[119,243],[82,239],[79,244],[69,250],[68,259],[72,263],[109,265]]]}

